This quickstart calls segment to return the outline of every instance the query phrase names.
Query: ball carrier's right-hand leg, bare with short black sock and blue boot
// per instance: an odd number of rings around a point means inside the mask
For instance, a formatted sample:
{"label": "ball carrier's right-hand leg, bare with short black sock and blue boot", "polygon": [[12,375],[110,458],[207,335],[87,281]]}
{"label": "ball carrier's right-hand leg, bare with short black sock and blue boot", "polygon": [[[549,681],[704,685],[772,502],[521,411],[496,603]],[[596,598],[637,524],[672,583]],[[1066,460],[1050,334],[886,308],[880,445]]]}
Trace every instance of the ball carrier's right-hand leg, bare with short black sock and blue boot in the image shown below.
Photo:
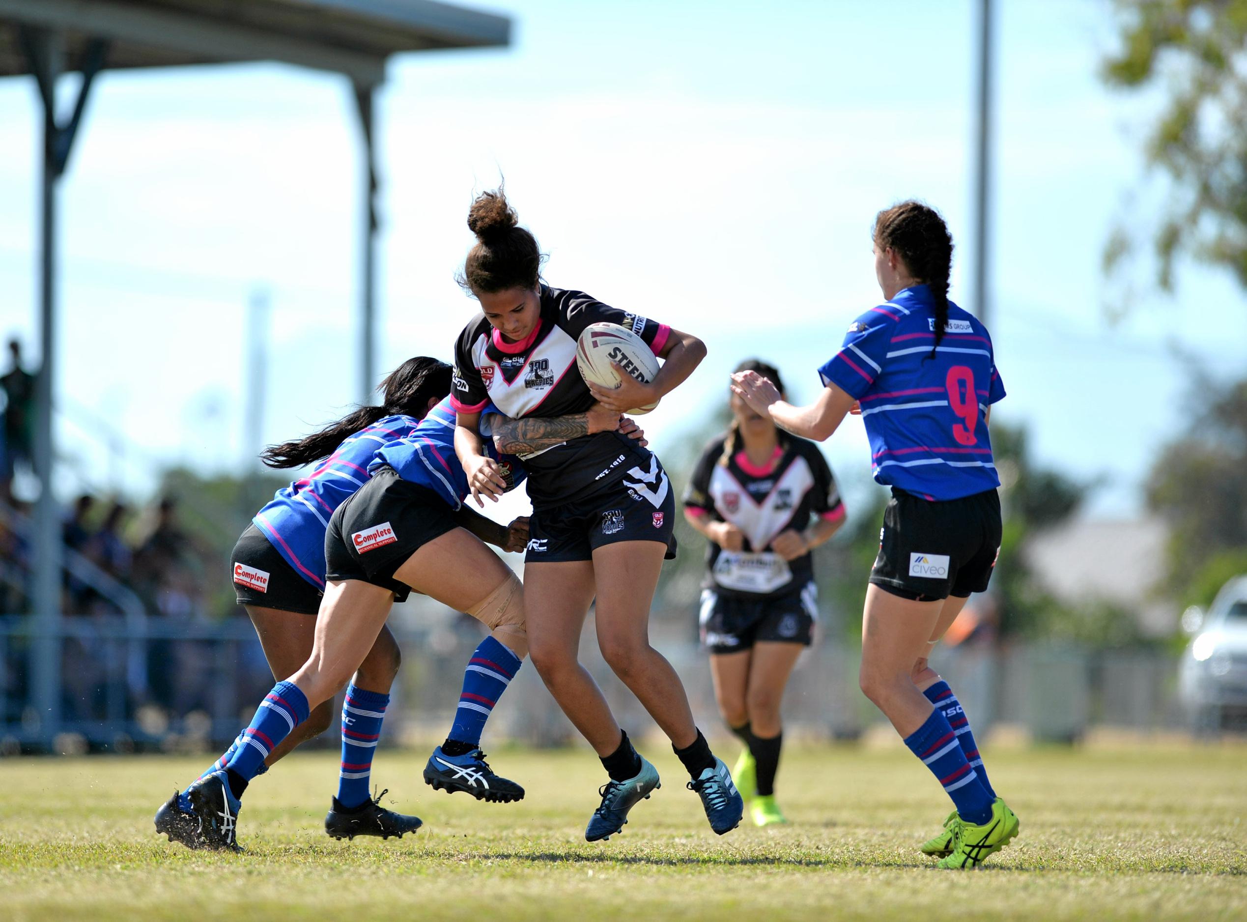
{"label": "ball carrier's right-hand leg, bare with short black sock and blue boot", "polygon": [[722,835],[739,825],[744,803],[727,766],[693,724],[680,676],[650,645],[650,605],[666,553],[666,543],[657,540],[624,540],[594,549],[597,644],[615,675],[671,740],[711,828]]}

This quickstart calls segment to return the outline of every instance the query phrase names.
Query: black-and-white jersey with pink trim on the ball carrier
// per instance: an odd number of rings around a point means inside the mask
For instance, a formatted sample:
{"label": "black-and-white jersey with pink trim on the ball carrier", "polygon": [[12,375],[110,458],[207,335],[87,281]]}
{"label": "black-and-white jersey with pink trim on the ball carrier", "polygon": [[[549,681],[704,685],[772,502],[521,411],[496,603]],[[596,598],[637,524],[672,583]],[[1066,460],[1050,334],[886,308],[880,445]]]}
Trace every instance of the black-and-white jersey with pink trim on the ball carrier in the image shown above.
{"label": "black-and-white jersey with pink trim on the ball carrier", "polygon": [[[503,341],[484,313],[455,342],[451,403],[460,413],[493,404],[513,419],[584,413],[594,394],[576,368],[576,341],[592,323],[617,323],[655,354],[671,334],[666,324],[626,313],[579,291],[541,286],[541,317],[518,343]],[[635,439],[597,433],[524,457],[529,499],[536,508],[581,499],[612,487],[632,468],[648,472],[653,457]]]}

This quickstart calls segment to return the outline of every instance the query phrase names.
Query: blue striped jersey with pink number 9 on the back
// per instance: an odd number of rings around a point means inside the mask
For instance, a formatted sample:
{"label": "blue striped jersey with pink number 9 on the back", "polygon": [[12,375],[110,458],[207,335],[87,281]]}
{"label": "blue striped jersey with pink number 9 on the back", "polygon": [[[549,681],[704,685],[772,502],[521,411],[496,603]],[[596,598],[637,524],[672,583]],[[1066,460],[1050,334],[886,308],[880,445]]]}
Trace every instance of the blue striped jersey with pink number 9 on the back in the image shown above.
{"label": "blue striped jersey with pink number 9 on the back", "polygon": [[934,344],[934,298],[917,284],[858,317],[818,373],[862,404],[875,480],[959,499],[1000,485],[984,418],[1005,388],[986,327],[951,302]]}

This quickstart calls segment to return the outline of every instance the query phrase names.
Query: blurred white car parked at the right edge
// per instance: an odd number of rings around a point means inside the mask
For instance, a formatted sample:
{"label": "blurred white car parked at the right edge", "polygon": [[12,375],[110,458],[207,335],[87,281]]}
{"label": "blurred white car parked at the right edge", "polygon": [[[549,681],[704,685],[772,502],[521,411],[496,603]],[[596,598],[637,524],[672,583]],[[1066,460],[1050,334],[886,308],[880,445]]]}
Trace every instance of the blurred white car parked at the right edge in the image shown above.
{"label": "blurred white car parked at the right edge", "polygon": [[1216,731],[1247,716],[1247,576],[1226,583],[1200,619],[1178,689],[1197,729]]}

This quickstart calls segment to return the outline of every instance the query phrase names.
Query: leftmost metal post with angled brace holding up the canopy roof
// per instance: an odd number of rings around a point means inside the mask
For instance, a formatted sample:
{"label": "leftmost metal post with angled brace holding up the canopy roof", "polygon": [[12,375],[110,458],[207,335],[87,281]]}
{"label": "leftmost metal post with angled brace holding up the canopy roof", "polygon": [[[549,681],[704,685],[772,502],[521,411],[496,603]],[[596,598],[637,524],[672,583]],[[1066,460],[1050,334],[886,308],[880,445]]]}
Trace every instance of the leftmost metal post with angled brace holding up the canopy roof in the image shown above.
{"label": "leftmost metal post with angled brace holding up the canopy roof", "polygon": [[74,138],[96,74],[104,67],[108,46],[89,42],[82,61],[82,85],[66,125],[56,120],[56,80],[65,72],[65,35],[51,29],[22,27],[22,50],[44,105],[44,162],[40,197],[39,338],[40,368],[35,377],[35,658],[34,702],[39,732],[51,740],[61,724],[61,523],[52,494],[56,462],[52,440],[52,384],[56,371],[56,195]]}

